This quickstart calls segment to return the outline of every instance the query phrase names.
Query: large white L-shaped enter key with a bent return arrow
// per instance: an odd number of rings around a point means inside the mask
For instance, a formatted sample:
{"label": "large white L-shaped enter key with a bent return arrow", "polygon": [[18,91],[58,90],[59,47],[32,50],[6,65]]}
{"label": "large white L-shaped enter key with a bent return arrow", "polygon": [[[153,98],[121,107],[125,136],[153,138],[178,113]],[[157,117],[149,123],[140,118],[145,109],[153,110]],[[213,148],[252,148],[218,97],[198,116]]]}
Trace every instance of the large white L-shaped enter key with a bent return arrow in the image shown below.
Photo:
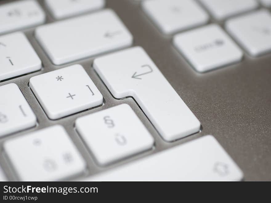
{"label": "large white L-shaped enter key with a bent return arrow", "polygon": [[200,130],[199,120],[141,47],[97,58],[93,67],[114,97],[134,97],[164,140]]}

